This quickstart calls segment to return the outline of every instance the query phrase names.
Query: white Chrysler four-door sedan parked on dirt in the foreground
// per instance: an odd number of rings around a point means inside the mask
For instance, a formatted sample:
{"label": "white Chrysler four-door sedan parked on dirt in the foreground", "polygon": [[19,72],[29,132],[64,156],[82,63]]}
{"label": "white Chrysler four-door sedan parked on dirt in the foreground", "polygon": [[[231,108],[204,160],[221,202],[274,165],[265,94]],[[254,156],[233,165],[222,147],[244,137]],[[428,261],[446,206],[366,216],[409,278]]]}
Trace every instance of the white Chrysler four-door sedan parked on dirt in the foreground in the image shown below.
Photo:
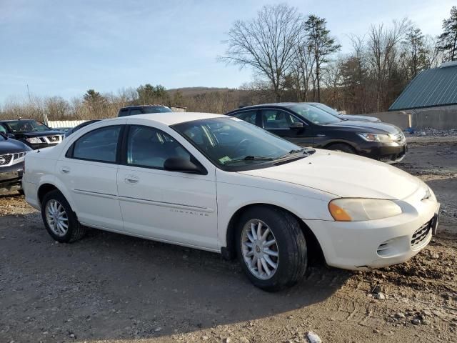
{"label": "white Chrysler four-door sedan parked on dirt in the foreground", "polygon": [[310,252],[345,269],[404,262],[430,242],[439,209],[393,166],[201,113],[86,126],[27,154],[23,187],[56,241],[94,227],[237,256],[268,291],[303,277]]}

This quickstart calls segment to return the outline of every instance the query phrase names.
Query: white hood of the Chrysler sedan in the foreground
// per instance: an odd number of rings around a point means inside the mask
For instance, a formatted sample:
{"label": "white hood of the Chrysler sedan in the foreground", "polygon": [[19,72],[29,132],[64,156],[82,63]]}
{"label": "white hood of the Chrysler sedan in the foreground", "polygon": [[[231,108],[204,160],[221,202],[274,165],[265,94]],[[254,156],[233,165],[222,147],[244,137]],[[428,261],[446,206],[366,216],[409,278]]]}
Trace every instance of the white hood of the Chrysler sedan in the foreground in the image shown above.
{"label": "white hood of the Chrysler sedan in the foreground", "polygon": [[418,178],[395,166],[321,149],[298,161],[238,173],[318,189],[336,197],[405,199],[423,187]]}

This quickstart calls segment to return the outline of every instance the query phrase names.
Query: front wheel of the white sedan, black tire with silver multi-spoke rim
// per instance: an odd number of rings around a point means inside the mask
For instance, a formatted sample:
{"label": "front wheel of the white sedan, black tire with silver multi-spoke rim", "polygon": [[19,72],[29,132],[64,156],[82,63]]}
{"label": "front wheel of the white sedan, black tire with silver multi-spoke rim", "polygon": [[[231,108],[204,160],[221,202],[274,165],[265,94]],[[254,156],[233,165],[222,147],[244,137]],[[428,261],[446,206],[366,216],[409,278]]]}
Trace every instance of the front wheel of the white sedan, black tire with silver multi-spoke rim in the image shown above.
{"label": "front wheel of the white sedan, black tire with silver multi-spoke rim", "polygon": [[[264,240],[253,237],[252,227],[257,234],[259,223],[262,236],[269,229]],[[263,245],[273,240],[276,241],[275,244],[268,247]],[[277,292],[293,286],[306,272],[308,252],[300,223],[293,215],[281,209],[265,206],[246,210],[239,219],[235,242],[236,254],[248,279],[254,286],[267,292]],[[252,243],[251,247],[248,247],[249,243]],[[277,256],[274,256],[275,253]],[[256,261],[263,259],[260,262],[261,272],[258,272],[258,262],[254,261],[254,257],[258,257]],[[264,264],[270,269],[269,275]],[[273,267],[274,264],[276,268]]]}

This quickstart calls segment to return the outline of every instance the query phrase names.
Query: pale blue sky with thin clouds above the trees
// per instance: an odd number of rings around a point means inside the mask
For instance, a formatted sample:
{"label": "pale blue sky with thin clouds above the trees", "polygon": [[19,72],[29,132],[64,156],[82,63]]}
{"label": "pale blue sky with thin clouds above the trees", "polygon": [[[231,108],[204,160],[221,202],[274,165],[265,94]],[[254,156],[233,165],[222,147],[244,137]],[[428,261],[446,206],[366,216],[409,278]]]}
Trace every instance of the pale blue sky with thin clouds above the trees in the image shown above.
{"label": "pale blue sky with thin clouds above the trees", "polygon": [[[408,16],[439,34],[455,0],[290,0],[317,14],[341,44],[371,24]],[[251,71],[216,61],[233,21],[250,19],[261,0],[0,0],[0,104],[26,96],[82,96],[140,84],[238,87]]]}

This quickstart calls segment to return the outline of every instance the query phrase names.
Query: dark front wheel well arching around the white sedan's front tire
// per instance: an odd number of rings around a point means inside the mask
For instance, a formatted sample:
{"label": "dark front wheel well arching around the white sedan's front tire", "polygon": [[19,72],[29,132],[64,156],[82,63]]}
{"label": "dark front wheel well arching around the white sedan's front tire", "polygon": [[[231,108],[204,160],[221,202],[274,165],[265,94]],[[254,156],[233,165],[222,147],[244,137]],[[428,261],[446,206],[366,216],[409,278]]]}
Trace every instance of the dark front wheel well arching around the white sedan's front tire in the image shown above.
{"label": "dark front wheel well arching around the white sedan's front tire", "polygon": [[311,229],[308,227],[308,225],[303,222],[300,218],[298,218],[295,214],[292,212],[283,209],[282,207],[278,207],[276,205],[271,205],[271,204],[249,204],[246,205],[245,207],[241,207],[241,209],[238,209],[238,211],[233,214],[229,221],[229,225],[227,227],[227,233],[226,233],[226,247],[222,248],[222,255],[226,259],[234,259],[236,257],[236,249],[235,249],[235,242],[236,242],[236,225],[239,222],[239,219],[241,217],[241,214],[245,212],[247,209],[250,209],[251,207],[270,207],[270,208],[276,208],[276,209],[281,209],[281,211],[288,212],[291,214],[293,217],[295,217],[298,220],[298,223],[300,223],[301,231],[305,235],[306,239],[306,246],[308,248],[309,256],[311,257],[311,260],[318,260],[320,262],[325,262],[325,259],[323,258],[323,252],[321,249],[321,244],[319,244],[316,236],[313,234]]}

